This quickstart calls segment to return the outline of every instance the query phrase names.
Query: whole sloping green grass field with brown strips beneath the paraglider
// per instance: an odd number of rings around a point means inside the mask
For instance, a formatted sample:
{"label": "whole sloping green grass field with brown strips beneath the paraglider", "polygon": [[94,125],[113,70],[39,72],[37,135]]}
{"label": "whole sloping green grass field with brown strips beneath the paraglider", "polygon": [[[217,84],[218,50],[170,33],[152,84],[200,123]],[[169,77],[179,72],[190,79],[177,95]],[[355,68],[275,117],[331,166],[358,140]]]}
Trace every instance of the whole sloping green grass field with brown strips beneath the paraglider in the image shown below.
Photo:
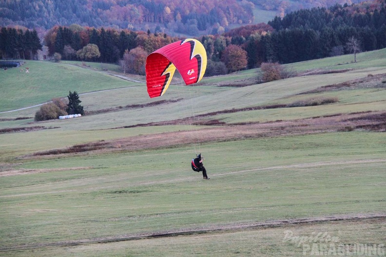
{"label": "whole sloping green grass field with brown strips beneath the paraglider", "polygon": [[[385,53],[289,65],[350,69],[341,73],[254,84],[249,70],[173,84],[162,99],[105,64],[1,72],[0,111],[71,90],[94,92],[80,99],[95,114],[0,113],[0,256],[312,256],[340,245],[335,255],[365,245],[385,255]],[[317,97],[338,100],[288,107]],[[270,105],[281,107],[260,108]],[[186,122],[192,115],[213,125]],[[79,145],[101,147],[63,151]],[[190,168],[201,151],[209,181]]]}

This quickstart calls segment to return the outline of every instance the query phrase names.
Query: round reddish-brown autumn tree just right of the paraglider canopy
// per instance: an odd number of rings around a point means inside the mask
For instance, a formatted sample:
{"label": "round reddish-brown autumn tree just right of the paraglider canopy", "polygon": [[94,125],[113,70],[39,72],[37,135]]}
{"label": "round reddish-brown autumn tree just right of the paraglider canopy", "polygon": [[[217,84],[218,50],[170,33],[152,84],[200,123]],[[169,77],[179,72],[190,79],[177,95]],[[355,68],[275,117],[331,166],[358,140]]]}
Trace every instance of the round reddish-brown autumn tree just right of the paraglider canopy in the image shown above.
{"label": "round reddish-brown autumn tree just right of the paraglider canopy", "polygon": [[247,52],[238,45],[229,45],[221,56],[229,72],[236,72],[245,69],[248,64]]}

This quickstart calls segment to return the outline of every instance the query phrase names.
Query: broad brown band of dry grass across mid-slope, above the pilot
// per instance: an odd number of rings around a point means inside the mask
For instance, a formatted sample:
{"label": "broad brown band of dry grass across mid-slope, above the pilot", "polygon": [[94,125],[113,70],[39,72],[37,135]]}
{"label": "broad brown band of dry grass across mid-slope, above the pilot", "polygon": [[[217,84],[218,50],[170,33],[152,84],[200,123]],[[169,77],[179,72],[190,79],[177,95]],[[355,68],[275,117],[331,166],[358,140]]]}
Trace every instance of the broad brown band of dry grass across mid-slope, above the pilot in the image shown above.
{"label": "broad brown band of dry grass across mid-slope, above the pilot", "polygon": [[[176,122],[176,121],[173,121]],[[154,149],[189,145],[197,140],[199,133],[200,143],[224,142],[244,140],[249,138],[277,137],[286,135],[305,135],[311,133],[324,133],[333,131],[352,131],[367,129],[370,131],[386,131],[386,112],[360,112],[348,114],[327,115],[293,121],[275,121],[266,123],[240,123],[224,124],[213,120],[201,124],[214,125],[204,129],[186,131],[164,132],[158,134],[138,135],[117,140],[98,141],[87,144],[75,145],[64,149],[54,149],[38,152],[33,156],[57,154],[81,154],[82,152],[95,151],[133,151],[141,149]],[[164,123],[165,124],[165,123]],[[158,124],[161,125],[161,124]],[[218,126],[221,125],[221,126]],[[153,125],[154,126],[154,125]],[[31,156],[25,156],[31,158]]]}

